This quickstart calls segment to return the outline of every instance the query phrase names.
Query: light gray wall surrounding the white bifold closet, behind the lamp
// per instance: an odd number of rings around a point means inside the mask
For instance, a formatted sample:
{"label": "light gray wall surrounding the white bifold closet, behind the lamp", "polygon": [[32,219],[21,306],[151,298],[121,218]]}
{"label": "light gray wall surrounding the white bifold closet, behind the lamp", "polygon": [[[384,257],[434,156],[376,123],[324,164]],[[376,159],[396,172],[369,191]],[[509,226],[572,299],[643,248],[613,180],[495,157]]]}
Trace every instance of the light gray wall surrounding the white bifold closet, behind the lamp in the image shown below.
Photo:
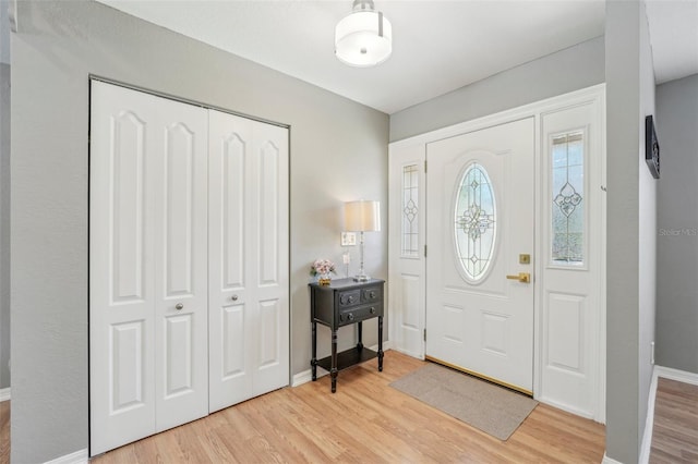
{"label": "light gray wall surrounding the white bifold closet, behind the lamp", "polygon": [[[291,125],[291,370],[306,370],[309,266],[317,257],[341,262],[342,202],[387,206],[388,117],[103,4],[17,3],[12,461],[45,462],[88,442],[89,73]],[[387,274],[383,222],[383,232],[368,234],[375,277]],[[376,342],[373,330],[364,333]]]}

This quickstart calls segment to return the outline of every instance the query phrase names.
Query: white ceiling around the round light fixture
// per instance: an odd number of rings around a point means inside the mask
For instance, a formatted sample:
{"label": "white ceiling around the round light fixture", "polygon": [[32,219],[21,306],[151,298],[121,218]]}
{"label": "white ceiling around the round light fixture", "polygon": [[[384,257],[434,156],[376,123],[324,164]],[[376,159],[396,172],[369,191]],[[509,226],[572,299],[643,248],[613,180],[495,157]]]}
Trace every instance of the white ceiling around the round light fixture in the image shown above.
{"label": "white ceiling around the round light fixture", "polygon": [[[605,11],[603,0],[376,0],[393,24],[393,56],[356,69],[334,56],[351,0],[98,1],[388,114],[601,36]],[[698,72],[698,0],[650,3],[658,76]],[[689,62],[690,47],[693,68],[673,64]]]}

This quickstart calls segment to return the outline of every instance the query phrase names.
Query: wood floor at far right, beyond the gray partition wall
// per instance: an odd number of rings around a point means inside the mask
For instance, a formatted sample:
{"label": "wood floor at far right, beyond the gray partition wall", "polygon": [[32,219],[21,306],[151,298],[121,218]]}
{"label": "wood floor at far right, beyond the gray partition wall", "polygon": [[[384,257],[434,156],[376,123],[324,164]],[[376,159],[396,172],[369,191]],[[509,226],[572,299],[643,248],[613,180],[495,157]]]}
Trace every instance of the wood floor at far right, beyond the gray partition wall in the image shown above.
{"label": "wood floor at far right, beyond the gray partition wall", "polygon": [[659,378],[650,463],[698,463],[698,386]]}

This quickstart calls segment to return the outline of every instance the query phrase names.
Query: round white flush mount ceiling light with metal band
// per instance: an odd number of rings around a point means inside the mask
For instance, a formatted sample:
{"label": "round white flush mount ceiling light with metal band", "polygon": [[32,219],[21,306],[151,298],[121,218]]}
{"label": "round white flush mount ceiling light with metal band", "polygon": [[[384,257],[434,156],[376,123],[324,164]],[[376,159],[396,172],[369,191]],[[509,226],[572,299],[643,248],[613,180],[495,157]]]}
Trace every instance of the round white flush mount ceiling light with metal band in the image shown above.
{"label": "round white flush mount ceiling light with metal band", "polygon": [[350,66],[375,66],[393,52],[393,26],[373,0],[354,0],[352,10],[335,28],[335,54]]}

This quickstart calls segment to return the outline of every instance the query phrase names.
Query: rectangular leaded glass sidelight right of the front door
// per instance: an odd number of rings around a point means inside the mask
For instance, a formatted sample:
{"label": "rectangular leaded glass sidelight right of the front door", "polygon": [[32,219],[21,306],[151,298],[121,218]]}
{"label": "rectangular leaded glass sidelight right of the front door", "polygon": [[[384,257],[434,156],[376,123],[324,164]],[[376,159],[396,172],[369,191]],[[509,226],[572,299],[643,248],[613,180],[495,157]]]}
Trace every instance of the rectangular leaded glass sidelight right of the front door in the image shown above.
{"label": "rectangular leaded glass sidelight right of the front door", "polygon": [[552,139],[552,260],[580,266],[585,261],[583,133]]}

